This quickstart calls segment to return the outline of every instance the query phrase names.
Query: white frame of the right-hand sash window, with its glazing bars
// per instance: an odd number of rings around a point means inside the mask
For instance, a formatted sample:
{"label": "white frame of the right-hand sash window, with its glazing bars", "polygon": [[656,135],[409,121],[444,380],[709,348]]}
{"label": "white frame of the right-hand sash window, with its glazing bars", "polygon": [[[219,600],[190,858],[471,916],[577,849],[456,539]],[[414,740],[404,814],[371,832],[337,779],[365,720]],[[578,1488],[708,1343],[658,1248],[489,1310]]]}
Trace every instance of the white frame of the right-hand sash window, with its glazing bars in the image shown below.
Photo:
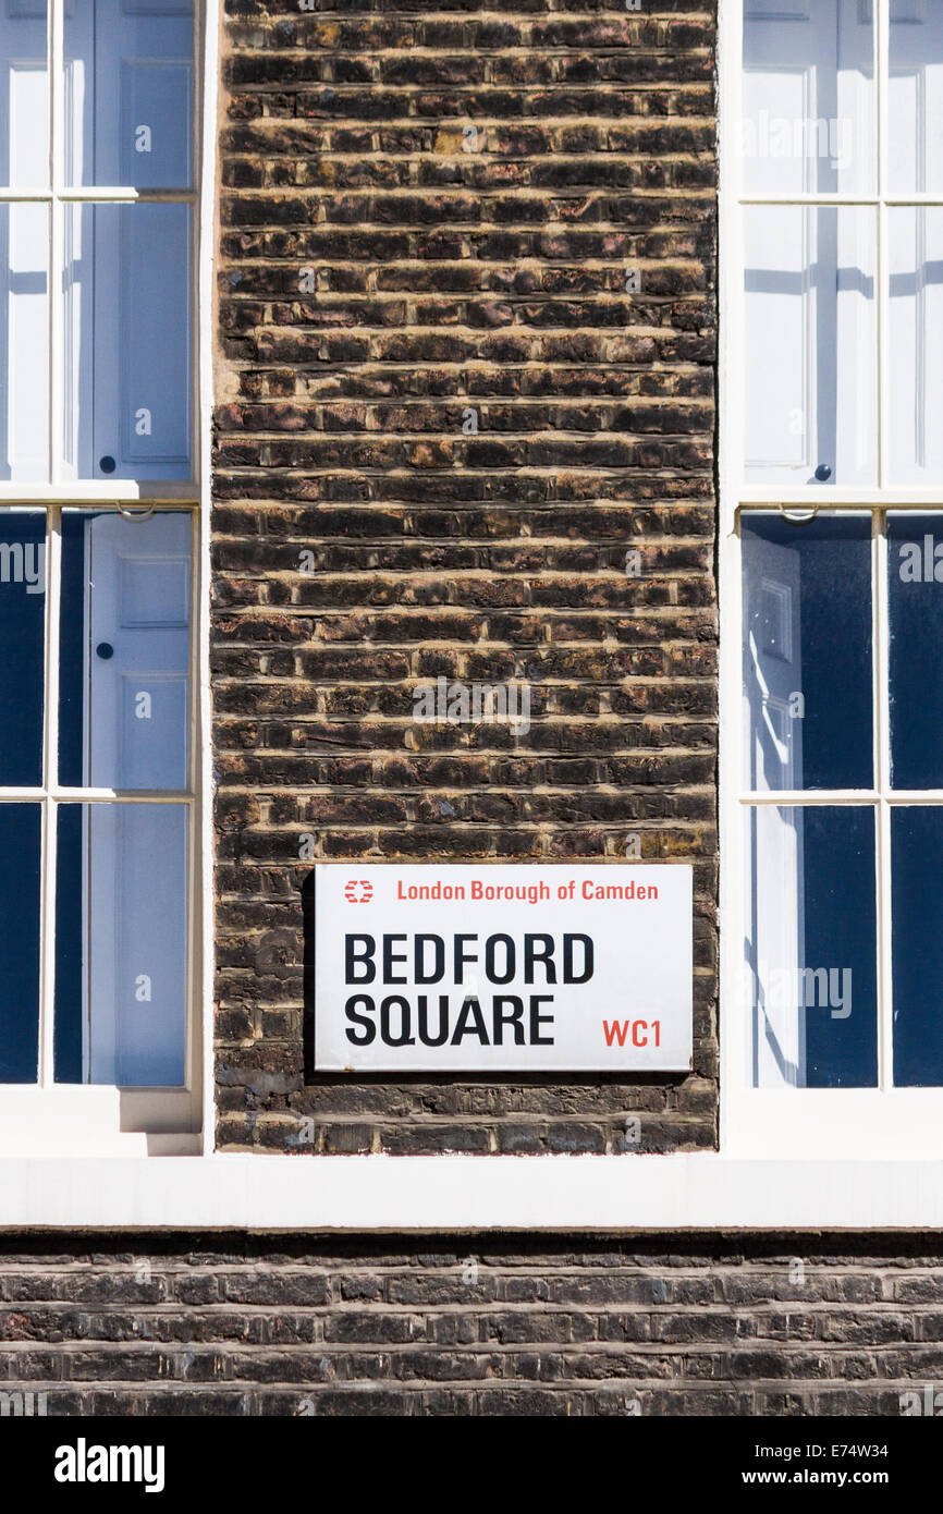
{"label": "white frame of the right-hand sash window, with its glazing bars", "polygon": [[[814,0],[813,0],[814,3]],[[882,363],[889,332],[887,220],[892,204],[943,204],[943,194],[884,195],[889,153],[890,0],[875,0],[873,73],[878,101],[878,183],[873,195],[745,194],[742,183],[740,118],[745,0],[719,6],[719,597],[720,597],[720,1148],[731,1157],[914,1157],[943,1152],[943,1089],[895,1089],[890,1020],[890,812],[896,804],[943,804],[943,789],[907,793],[890,789],[887,683],[887,537],[889,509],[908,513],[943,510],[943,478],[937,488],[884,484],[889,466],[889,365]],[[842,483],[769,488],[743,481],[743,204],[860,204],[878,217],[876,353],[878,481],[867,488]],[[872,516],[872,677],[873,772],[870,790],[801,790],[749,793],[743,783],[742,639],[743,589],[740,516],[749,509],[796,516],[822,512],[869,512]],[[801,525],[796,527],[801,530]],[[758,804],[860,804],[875,818],[878,919],[878,1087],[876,1089],[752,1089],[748,1084],[748,1005],[743,1002],[743,848],[745,819]]]}

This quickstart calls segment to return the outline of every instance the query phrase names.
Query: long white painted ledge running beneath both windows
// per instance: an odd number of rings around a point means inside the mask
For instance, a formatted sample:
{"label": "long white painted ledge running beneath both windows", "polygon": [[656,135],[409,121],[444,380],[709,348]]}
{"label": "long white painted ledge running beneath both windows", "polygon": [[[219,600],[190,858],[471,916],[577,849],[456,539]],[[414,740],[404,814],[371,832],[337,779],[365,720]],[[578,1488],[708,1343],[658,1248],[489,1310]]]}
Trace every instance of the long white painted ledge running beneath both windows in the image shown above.
{"label": "long white painted ledge running beneath both windows", "polygon": [[0,1160],[0,1228],[943,1229],[943,1161],[678,1157]]}

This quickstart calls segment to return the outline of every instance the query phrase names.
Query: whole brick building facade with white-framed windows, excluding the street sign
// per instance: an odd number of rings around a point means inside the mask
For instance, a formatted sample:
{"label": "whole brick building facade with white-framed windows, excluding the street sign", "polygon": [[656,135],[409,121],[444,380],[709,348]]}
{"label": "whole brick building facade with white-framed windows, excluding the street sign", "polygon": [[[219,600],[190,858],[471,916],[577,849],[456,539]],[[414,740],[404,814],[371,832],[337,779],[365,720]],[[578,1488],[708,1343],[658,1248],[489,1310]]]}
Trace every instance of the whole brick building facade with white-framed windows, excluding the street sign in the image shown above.
{"label": "whole brick building facade with white-framed windows, excluding the street sign", "polygon": [[[925,1413],[943,5],[5,9],[0,1381]],[[325,1067],[378,864],[690,869],[690,1058]]]}

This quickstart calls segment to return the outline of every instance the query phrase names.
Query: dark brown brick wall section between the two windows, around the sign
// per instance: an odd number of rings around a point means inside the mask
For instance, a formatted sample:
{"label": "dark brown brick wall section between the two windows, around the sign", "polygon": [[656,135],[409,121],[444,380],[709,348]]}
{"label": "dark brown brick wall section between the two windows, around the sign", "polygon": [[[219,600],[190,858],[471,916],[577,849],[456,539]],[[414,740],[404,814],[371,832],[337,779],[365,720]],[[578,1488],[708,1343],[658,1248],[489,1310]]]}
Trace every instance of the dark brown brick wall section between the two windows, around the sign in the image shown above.
{"label": "dark brown brick wall section between the two windows, around the sign", "polygon": [[[316,3],[224,27],[219,1143],[710,1146],[713,11]],[[415,724],[439,675],[530,733]],[[693,861],[693,1073],[306,1083],[304,836]]]}

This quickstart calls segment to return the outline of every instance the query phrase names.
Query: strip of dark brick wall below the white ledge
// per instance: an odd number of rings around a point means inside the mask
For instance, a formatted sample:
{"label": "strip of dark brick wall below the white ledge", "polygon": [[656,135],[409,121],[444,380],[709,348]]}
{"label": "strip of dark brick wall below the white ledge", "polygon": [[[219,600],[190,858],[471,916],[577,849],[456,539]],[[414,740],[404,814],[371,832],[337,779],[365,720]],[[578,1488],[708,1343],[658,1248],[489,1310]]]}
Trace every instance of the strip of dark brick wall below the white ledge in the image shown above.
{"label": "strip of dark brick wall below the white ledge", "polygon": [[928,1385],[938,1237],[0,1238],[0,1391],[48,1414],[896,1416]]}

